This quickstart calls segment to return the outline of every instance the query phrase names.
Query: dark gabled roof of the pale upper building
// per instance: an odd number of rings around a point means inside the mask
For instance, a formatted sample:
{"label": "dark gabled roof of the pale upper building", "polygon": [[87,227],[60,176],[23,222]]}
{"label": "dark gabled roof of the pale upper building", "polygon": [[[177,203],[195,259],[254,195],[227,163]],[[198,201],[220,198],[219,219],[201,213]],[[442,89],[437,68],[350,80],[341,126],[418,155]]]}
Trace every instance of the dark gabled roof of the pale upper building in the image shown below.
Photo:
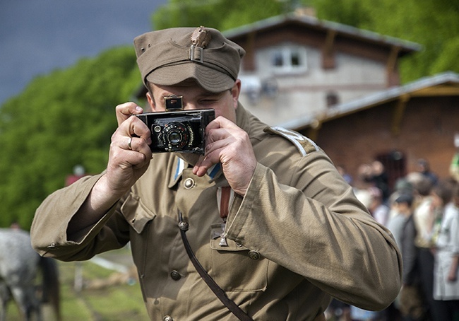
{"label": "dark gabled roof of the pale upper building", "polygon": [[304,25],[304,27],[315,30],[333,30],[338,35],[362,40],[364,42],[373,42],[375,44],[386,45],[388,47],[399,47],[399,57],[422,49],[422,45],[419,45],[415,42],[410,42],[387,35],[381,35],[369,30],[363,30],[352,27],[350,25],[344,25],[342,23],[320,20],[313,16],[299,15],[297,13],[287,13],[281,16],[266,18],[261,21],[256,21],[255,23],[250,23],[248,25],[243,25],[238,28],[227,30],[223,34],[225,37],[233,40],[238,37],[244,37],[250,33],[268,30],[270,28],[277,28],[280,25],[292,24],[301,24]]}

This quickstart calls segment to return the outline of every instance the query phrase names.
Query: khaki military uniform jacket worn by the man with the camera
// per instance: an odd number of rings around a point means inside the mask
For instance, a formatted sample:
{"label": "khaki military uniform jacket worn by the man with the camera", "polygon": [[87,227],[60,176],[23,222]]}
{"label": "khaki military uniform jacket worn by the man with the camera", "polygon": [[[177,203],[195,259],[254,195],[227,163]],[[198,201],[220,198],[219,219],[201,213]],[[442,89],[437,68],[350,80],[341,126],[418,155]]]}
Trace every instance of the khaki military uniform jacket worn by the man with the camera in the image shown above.
{"label": "khaki military uniform jacket worn by the man with the camera", "polygon": [[33,247],[70,261],[130,241],[151,320],[236,320],[186,255],[181,212],[198,260],[254,320],[313,320],[330,296],[371,310],[389,305],[400,289],[400,252],[326,154],[299,134],[266,132],[240,105],[237,124],[258,164],[246,196],[232,199],[226,226],[217,197],[225,177],[196,177],[177,155],[162,153],[78,242],[67,240],[66,228],[100,176],[54,192],[37,209]]}

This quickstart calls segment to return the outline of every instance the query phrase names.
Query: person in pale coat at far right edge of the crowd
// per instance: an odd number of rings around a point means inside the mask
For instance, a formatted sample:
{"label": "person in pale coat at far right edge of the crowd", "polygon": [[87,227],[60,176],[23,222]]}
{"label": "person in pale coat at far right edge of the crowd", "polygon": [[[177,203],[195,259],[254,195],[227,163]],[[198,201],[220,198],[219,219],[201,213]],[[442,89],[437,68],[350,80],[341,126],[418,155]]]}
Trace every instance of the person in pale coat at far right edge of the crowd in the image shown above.
{"label": "person in pale coat at far right edge of the crowd", "polygon": [[443,303],[443,320],[459,317],[459,185],[441,182],[434,188],[434,205],[443,209],[436,239],[434,299]]}

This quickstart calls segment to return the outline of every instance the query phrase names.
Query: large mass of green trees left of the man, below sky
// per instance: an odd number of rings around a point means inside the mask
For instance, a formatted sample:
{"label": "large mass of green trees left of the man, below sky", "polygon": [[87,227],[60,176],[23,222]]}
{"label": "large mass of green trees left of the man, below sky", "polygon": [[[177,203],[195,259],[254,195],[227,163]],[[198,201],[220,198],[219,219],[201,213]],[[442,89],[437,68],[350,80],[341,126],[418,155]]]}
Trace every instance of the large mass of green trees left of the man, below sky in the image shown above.
{"label": "large mass of green trees left of the man, below sky", "polygon": [[129,100],[140,75],[131,48],[107,50],[35,78],[0,109],[0,226],[28,228],[35,209],[81,164],[107,164],[114,107]]}

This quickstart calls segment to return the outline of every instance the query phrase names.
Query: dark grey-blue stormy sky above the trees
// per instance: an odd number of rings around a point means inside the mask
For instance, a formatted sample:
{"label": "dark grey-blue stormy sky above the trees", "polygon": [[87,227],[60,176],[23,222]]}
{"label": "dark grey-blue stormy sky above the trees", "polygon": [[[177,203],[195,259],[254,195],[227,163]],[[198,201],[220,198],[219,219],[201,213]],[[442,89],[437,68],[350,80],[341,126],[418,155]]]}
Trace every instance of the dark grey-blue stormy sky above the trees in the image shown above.
{"label": "dark grey-blue stormy sky above the trees", "polygon": [[132,45],[167,0],[0,0],[0,105],[35,76]]}

